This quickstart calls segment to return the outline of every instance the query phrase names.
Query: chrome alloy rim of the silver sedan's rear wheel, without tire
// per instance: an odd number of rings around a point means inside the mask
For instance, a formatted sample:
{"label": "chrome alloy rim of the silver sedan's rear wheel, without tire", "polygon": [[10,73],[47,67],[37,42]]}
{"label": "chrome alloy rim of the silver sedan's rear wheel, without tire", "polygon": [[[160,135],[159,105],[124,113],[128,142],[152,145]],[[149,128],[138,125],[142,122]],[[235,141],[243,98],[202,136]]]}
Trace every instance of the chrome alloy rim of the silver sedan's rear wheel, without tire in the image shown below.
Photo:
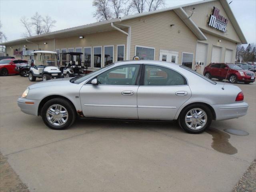
{"label": "chrome alloy rim of the silver sedan's rear wheel, without tire", "polygon": [[207,122],[207,114],[200,108],[191,109],[186,114],[185,122],[192,130],[201,129]]}

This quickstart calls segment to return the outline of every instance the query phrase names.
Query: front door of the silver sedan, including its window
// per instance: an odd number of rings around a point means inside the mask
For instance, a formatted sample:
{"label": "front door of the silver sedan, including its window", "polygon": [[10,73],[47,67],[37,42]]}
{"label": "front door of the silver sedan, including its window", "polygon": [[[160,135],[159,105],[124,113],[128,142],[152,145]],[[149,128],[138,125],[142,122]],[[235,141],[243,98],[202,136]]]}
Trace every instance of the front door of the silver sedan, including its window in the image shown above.
{"label": "front door of the silver sedan, including its window", "polygon": [[82,86],[80,100],[86,117],[138,119],[138,76],[142,65],[116,66],[99,74],[97,85]]}

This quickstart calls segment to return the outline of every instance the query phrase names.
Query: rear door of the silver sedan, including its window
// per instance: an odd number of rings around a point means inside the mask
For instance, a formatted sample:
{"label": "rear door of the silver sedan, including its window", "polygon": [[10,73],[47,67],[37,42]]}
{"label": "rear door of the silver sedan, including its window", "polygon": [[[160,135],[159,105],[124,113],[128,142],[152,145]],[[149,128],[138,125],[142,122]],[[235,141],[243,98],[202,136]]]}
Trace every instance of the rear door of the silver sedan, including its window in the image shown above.
{"label": "rear door of the silver sedan, including its window", "polygon": [[188,82],[182,74],[166,67],[145,64],[138,88],[139,119],[173,120],[190,97]]}

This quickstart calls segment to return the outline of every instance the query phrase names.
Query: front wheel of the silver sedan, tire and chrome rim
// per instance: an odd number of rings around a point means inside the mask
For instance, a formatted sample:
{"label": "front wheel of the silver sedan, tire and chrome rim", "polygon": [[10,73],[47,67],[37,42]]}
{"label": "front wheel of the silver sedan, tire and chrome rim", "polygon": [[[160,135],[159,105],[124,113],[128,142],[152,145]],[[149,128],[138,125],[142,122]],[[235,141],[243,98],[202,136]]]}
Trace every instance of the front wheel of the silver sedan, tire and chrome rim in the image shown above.
{"label": "front wheel of the silver sedan, tire and chrome rim", "polygon": [[74,106],[66,99],[54,98],[42,107],[44,124],[54,130],[63,130],[74,123],[76,111]]}

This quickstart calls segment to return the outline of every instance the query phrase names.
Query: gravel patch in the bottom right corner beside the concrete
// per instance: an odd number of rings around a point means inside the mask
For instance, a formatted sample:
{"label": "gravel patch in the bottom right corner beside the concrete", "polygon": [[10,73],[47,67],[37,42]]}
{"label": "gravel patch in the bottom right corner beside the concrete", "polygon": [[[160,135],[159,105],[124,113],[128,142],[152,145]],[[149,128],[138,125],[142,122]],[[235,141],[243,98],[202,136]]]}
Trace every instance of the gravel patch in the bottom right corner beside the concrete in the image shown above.
{"label": "gravel patch in the bottom right corner beside the concrete", "polygon": [[241,177],[234,192],[256,192],[256,159]]}

